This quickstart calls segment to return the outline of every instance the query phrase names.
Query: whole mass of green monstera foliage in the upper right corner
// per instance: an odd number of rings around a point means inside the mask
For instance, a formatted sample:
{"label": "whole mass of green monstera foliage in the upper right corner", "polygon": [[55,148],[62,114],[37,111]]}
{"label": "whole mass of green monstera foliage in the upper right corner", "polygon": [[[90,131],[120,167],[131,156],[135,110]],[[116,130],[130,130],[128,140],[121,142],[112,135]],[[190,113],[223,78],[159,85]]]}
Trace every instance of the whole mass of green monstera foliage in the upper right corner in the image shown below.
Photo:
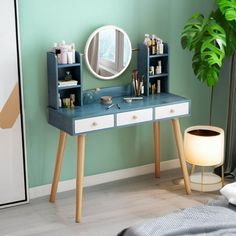
{"label": "whole mass of green monstera foliage in the upper right corner", "polygon": [[214,86],[225,56],[236,51],[236,0],[216,0],[218,8],[208,17],[194,14],[181,34],[183,49],[193,51],[197,79]]}

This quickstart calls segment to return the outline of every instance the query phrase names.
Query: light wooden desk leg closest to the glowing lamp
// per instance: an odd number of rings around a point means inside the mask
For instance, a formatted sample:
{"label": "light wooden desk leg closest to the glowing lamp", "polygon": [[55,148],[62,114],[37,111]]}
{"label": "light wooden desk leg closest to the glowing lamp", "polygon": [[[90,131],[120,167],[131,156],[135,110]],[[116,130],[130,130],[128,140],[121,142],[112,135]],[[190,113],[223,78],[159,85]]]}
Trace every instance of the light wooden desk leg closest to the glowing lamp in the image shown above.
{"label": "light wooden desk leg closest to the glowing lamp", "polygon": [[184,176],[185,190],[187,194],[190,194],[191,193],[190,180],[189,180],[187,165],[186,165],[186,161],[184,157],[183,137],[180,130],[179,119],[172,119],[172,125],[174,129],[174,134],[175,134],[176,146],[177,146],[178,154],[179,154],[180,166],[181,166],[183,176]]}

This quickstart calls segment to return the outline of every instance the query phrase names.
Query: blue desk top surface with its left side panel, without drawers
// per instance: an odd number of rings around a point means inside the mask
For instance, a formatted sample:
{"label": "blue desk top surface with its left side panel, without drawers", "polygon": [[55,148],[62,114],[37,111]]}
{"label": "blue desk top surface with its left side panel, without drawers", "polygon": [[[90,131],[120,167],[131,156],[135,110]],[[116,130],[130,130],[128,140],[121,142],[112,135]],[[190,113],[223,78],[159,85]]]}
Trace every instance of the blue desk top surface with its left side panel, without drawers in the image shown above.
{"label": "blue desk top surface with its left side panel, without drawers", "polygon": [[123,97],[114,97],[112,99],[113,104],[119,104],[120,109],[117,106],[113,106],[107,109],[108,105],[104,105],[100,100],[95,101],[92,104],[87,104],[81,107],[69,108],[59,108],[53,109],[49,108],[49,120],[48,122],[66,131],[71,135],[74,133],[74,121],[78,119],[91,118],[102,115],[117,114],[127,111],[135,111],[146,108],[161,107],[166,105],[173,105],[183,102],[189,102],[190,100],[175,94],[170,93],[160,93],[144,97],[143,100],[135,100],[132,103],[127,103],[124,101]]}

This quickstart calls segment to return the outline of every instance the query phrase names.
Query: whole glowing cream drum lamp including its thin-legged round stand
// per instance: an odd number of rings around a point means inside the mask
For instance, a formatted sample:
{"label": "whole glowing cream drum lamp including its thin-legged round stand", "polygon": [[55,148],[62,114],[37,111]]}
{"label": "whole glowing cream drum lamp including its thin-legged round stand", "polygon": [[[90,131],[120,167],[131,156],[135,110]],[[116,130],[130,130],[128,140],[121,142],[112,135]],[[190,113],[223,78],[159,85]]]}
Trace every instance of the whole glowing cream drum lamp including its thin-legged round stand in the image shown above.
{"label": "whole glowing cream drum lamp including its thin-legged round stand", "polygon": [[[184,151],[186,161],[192,165],[190,174],[192,190],[209,192],[222,188],[224,182],[223,129],[214,126],[193,126],[186,129]],[[199,166],[201,171],[195,172],[196,166]],[[209,171],[218,166],[222,166],[221,177]]]}

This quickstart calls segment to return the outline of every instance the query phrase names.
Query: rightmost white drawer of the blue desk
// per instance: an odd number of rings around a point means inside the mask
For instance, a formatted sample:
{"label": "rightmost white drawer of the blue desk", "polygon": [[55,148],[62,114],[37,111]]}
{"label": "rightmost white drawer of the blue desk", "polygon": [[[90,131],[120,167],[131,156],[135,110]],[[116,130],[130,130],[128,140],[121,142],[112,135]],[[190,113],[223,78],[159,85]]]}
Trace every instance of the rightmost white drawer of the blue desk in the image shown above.
{"label": "rightmost white drawer of the blue desk", "polygon": [[164,119],[189,114],[189,103],[179,103],[155,108],[155,119]]}

